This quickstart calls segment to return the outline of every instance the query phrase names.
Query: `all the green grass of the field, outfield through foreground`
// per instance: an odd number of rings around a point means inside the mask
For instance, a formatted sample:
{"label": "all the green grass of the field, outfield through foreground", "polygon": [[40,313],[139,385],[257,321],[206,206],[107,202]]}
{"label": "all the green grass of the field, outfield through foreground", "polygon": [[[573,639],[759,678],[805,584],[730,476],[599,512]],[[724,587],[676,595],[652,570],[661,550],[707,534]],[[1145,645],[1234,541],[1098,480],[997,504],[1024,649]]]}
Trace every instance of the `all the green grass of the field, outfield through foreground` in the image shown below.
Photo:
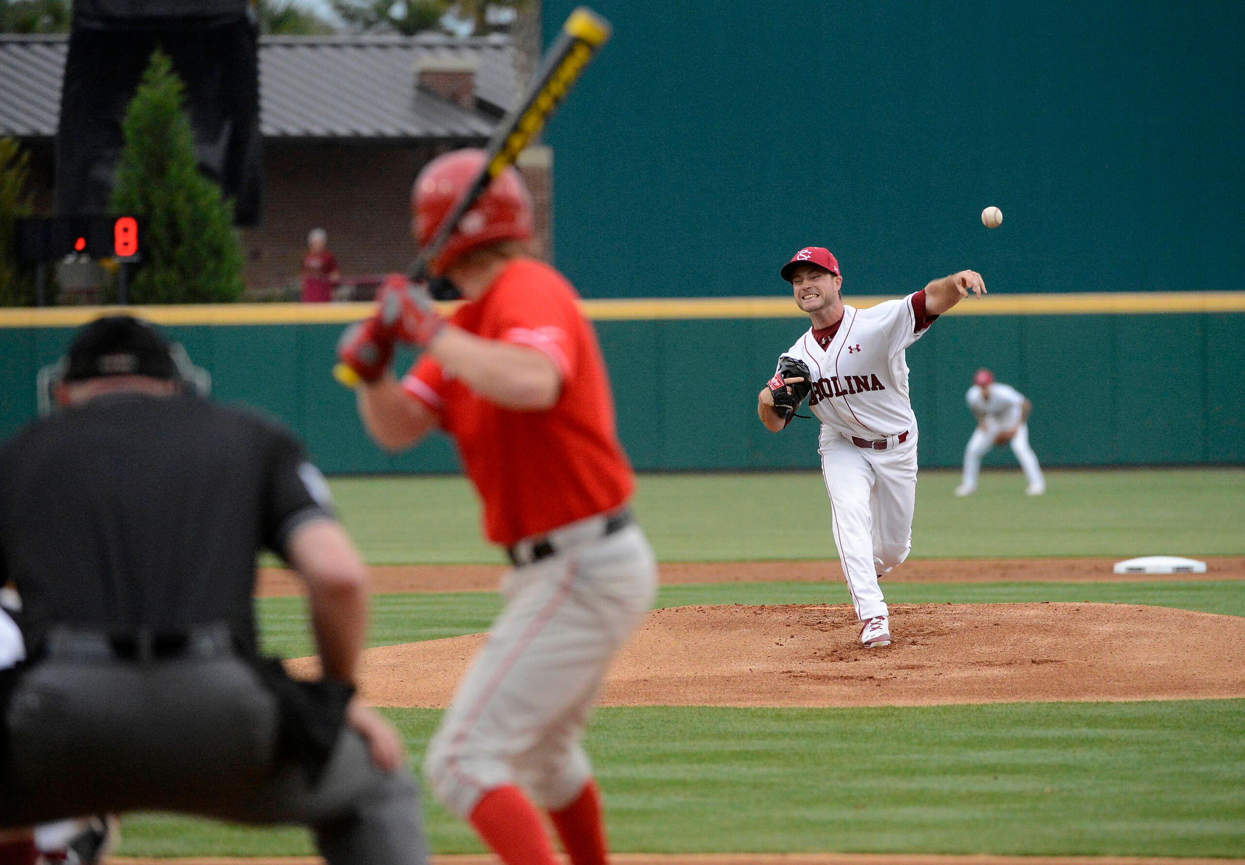
{"label": "all the green grass of the field, outfield through foreground", "polygon": [[[1245,470],[923,473],[914,556],[1245,554]],[[665,561],[829,559],[815,473],[645,475],[636,509]],[[372,563],[499,561],[458,478],[334,479]],[[845,604],[827,582],[662,587],[659,606]],[[1103,601],[1245,616],[1245,582],[884,584],[914,602]],[[493,592],[378,595],[370,645],[487,629]],[[301,599],[259,602],[268,651],[311,652]],[[422,759],[439,712],[386,709]],[[601,709],[588,747],[622,851],[859,851],[1245,856],[1245,701],[904,708]],[[436,853],[478,851],[431,800]],[[312,853],[300,829],[169,815],[126,820],[122,855]]]}

